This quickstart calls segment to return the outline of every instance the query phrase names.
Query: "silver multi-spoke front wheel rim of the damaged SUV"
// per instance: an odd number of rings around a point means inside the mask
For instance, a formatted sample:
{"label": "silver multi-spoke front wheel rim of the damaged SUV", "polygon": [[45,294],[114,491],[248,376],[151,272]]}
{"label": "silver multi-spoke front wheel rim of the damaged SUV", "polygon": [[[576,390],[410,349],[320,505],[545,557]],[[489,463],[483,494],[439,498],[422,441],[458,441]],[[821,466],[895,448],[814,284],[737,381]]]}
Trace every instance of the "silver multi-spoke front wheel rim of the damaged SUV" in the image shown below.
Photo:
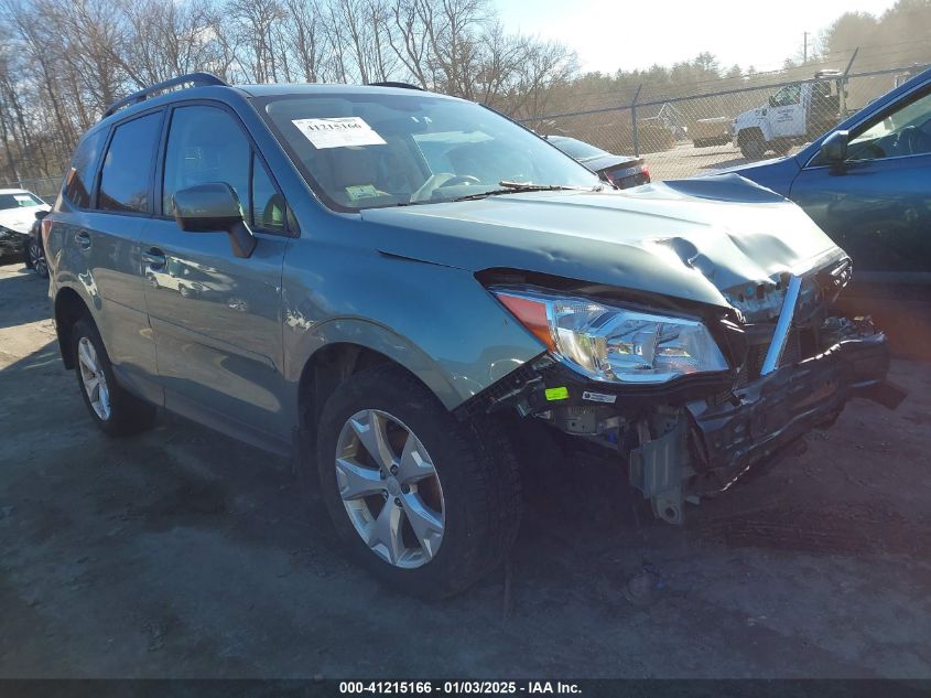
{"label": "silver multi-spoke front wheel rim of the damaged SUV", "polygon": [[353,415],[336,443],[336,485],[356,533],[394,567],[432,560],[446,507],[433,460],[414,432],[376,409]]}

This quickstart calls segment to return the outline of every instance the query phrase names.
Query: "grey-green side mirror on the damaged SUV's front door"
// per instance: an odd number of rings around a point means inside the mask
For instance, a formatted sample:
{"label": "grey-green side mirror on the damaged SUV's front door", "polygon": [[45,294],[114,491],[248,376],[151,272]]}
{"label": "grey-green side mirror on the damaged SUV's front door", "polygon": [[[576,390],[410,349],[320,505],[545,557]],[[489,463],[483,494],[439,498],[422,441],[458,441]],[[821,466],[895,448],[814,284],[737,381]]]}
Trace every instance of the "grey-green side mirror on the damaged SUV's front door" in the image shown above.
{"label": "grey-green side mirror on the damaged SUV's front door", "polygon": [[185,233],[226,233],[237,257],[250,257],[256,249],[256,238],[242,219],[239,197],[225,182],[175,192],[174,218]]}

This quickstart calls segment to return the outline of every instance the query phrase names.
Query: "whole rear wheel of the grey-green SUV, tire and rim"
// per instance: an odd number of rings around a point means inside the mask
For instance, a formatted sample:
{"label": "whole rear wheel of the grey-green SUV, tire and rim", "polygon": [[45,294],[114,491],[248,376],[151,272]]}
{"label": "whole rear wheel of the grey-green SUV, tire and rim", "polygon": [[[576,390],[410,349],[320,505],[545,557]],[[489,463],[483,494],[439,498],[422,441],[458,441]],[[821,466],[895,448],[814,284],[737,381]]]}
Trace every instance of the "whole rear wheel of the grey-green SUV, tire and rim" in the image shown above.
{"label": "whole rear wheel of the grey-green SUV, tire and rim", "polygon": [[77,385],[97,427],[111,437],[139,433],[151,427],[155,406],[117,383],[97,325],[82,318],[75,322],[71,340]]}

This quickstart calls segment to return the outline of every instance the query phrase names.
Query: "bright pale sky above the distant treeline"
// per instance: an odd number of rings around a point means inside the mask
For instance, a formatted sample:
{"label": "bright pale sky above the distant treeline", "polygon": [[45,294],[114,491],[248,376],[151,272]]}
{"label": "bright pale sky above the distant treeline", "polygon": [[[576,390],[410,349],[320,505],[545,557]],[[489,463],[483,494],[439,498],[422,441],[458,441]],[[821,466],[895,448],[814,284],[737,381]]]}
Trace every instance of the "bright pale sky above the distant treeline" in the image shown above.
{"label": "bright pale sky above the distant treeline", "polygon": [[721,65],[776,69],[802,49],[803,32],[846,11],[881,14],[894,0],[491,0],[511,32],[574,49],[584,71],[614,73],[690,61],[703,51]]}

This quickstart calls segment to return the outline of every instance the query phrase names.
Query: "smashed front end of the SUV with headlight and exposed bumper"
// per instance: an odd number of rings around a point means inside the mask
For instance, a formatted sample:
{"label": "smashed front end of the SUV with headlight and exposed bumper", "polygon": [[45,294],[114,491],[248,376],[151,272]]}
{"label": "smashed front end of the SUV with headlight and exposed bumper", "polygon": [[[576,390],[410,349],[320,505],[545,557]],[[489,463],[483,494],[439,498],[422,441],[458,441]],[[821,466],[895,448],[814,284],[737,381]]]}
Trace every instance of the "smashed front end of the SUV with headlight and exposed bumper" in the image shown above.
{"label": "smashed front end of the SUV with headlight and exposed bumper", "polygon": [[[627,309],[627,324],[613,330],[621,340],[605,346],[596,332],[564,333],[561,343],[559,308],[539,300],[552,293],[553,279],[544,291],[539,278],[498,273],[486,279],[489,290],[550,351],[476,395],[458,415],[510,408],[600,447],[604,457],[628,465],[630,484],[657,517],[681,524],[684,502],[724,491],[753,465],[791,450],[812,429],[833,423],[848,399],[895,409],[905,397],[886,380],[885,335],[869,319],[831,312],[849,276],[849,259],[829,259],[809,272],[729,289],[729,309],[563,282],[564,303],[594,309],[591,326],[621,322],[605,320],[598,309]],[[548,341],[548,332],[555,339]],[[657,371],[661,352],[667,364]],[[625,373],[627,366],[634,368]]]}

